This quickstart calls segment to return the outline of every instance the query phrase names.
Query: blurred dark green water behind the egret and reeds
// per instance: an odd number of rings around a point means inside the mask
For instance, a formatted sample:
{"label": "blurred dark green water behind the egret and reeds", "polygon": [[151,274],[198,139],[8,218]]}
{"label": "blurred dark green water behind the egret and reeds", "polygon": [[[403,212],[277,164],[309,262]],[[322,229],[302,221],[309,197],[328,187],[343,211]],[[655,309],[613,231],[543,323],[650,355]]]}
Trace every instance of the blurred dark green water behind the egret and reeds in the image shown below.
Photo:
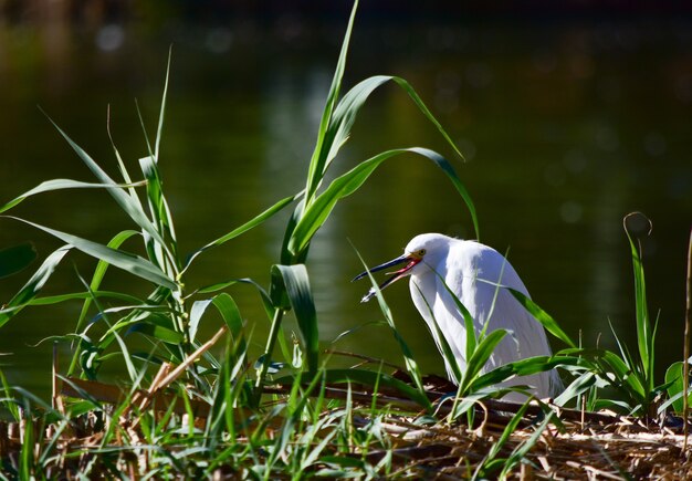
{"label": "blurred dark green water behind the egret and reeds", "polygon": [[[585,345],[614,346],[610,322],[636,349],[622,218],[646,213],[653,222],[642,245],[662,374],[682,357],[692,220],[690,9],[545,6],[361,2],[345,88],[376,74],[408,80],[466,161],[389,85],[363,109],[333,175],[387,148],[445,155],[473,197],[481,240],[508,251],[534,300],[570,335],[581,333]],[[153,136],[172,45],[160,161],[179,244],[191,252],[231,231],[303,188],[349,9],[345,1],[0,2],[0,202],[46,179],[94,180],[36,106],[116,176],[109,105],[115,143],[138,171],[146,145],[135,100]],[[99,242],[134,227],[102,191],[45,194],[10,213]],[[248,276],[266,285],[287,215],[199,258],[187,284]],[[646,222],[636,224],[643,234]],[[373,265],[430,231],[475,237],[453,187],[421,158],[392,159],[338,205],[308,262],[325,346],[356,330],[335,347],[401,363],[391,333],[373,325],[381,318],[376,303],[359,303],[367,283],[350,283],[361,270],[353,245]],[[0,248],[27,240],[39,260],[0,280],[0,303],[60,245],[0,219]],[[82,291],[77,272],[88,280],[94,265],[70,254],[45,293]],[[115,269],[104,287],[146,292]],[[229,292],[253,326],[259,355],[269,326],[259,296],[249,286]],[[443,373],[405,283],[386,297],[423,370]],[[0,353],[8,354],[0,363],[12,383],[49,393],[51,345],[33,346],[74,330],[80,309],[27,309],[0,328]],[[208,323],[206,332],[218,326]]]}

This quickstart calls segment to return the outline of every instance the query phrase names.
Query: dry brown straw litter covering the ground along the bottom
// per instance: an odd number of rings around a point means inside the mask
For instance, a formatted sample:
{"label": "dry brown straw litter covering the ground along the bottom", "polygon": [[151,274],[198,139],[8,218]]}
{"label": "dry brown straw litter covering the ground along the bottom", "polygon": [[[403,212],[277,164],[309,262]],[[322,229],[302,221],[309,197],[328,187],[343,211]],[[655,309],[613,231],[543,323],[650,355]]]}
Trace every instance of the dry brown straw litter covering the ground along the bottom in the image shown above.
{"label": "dry brown straw litter covering the ground along the bottom", "polygon": [[[439,398],[439,389],[445,388],[444,383],[437,378],[427,378],[431,387],[431,398]],[[90,389],[87,385],[82,388]],[[94,389],[102,389],[96,384]],[[285,391],[283,387],[274,387],[275,394]],[[91,393],[98,396],[96,390]],[[346,391],[337,386],[326,389],[325,397],[343,398]],[[109,394],[111,396],[112,394]],[[411,405],[406,399],[398,399],[392,393],[382,393],[381,402],[392,407],[391,412],[402,409],[409,410]],[[354,399],[352,420],[355,429],[365,428],[371,418],[367,412],[371,409],[373,395],[354,389],[350,393]],[[368,399],[370,401],[368,401]],[[549,405],[547,405],[549,406]],[[518,405],[494,400],[484,401],[476,406],[475,420],[472,426],[464,422],[421,424],[423,412],[389,414],[381,419],[380,430],[386,438],[386,447],[352,446],[348,452],[339,451],[342,457],[352,457],[354,460],[365,460],[377,466],[385,458],[390,457],[388,472],[380,473],[385,478],[413,479],[465,479],[471,478],[479,467],[487,461],[486,457],[493,446],[501,438],[503,430],[516,414]],[[165,409],[166,406],[159,406]],[[444,404],[438,406],[439,418],[444,414]],[[690,450],[683,450],[684,436],[682,422],[679,418],[669,416],[660,421],[641,418],[618,416],[614,412],[580,412],[569,409],[559,409],[551,406],[559,421],[551,424],[541,432],[522,461],[510,472],[510,479],[688,479],[692,477],[692,460]],[[496,458],[510,458],[512,452],[524,445],[536,432],[536,428],[544,419],[545,406],[532,405],[523,417],[518,428],[512,432],[506,442],[496,452]],[[378,412],[382,412],[378,410]],[[60,435],[55,436],[57,425],[42,426],[41,432],[31,432],[33,439],[57,439],[52,447],[55,461],[49,463],[46,477],[60,475],[63,479],[74,479],[87,464],[98,464],[99,453],[107,450],[125,448],[109,461],[117,466],[122,473],[141,473],[146,470],[147,457],[136,456],[137,442],[146,443],[145,433],[138,426],[139,417],[126,415],[117,419],[124,436],[113,437],[107,445],[103,445],[104,432],[108,424],[114,422],[112,411],[90,412],[72,420]],[[324,409],[319,418],[334,416],[334,409]],[[281,414],[271,422],[261,424],[266,439],[281,436],[285,418]],[[187,421],[180,418],[180,424]],[[196,426],[203,429],[203,418],[196,419]],[[245,432],[254,431],[258,426]],[[0,459],[19,459],[27,433],[25,424],[0,422]],[[256,431],[255,431],[256,435]],[[326,432],[324,433],[326,436]],[[250,437],[240,435],[232,442],[240,446],[250,442]],[[300,442],[296,438],[292,442]],[[43,447],[36,447],[39,456]],[[175,445],[167,448],[176,452]],[[182,451],[185,446],[178,449]],[[329,454],[328,452],[326,454]],[[260,456],[262,456],[260,453]],[[256,459],[255,459],[256,460]],[[252,462],[248,457],[247,462]],[[145,466],[143,466],[143,463]],[[318,471],[319,462],[311,470]],[[93,469],[92,474],[107,477],[112,471]],[[234,479],[242,472],[241,466],[220,464],[213,472],[214,479]],[[496,474],[496,473],[495,473]],[[172,478],[184,479],[184,472]]]}

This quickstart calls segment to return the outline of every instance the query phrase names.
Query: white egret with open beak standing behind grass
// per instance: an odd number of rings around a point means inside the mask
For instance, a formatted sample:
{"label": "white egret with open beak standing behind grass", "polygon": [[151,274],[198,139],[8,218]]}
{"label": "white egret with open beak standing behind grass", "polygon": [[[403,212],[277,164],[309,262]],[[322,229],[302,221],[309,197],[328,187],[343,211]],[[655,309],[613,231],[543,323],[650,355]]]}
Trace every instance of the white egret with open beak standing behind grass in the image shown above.
{"label": "white egret with open beak standing behind grass", "polygon": [[[398,264],[405,266],[391,273],[391,278],[379,289],[410,275],[409,287],[416,309],[428,324],[438,349],[442,352],[434,326],[437,321],[462,373],[466,366],[464,320],[441,279],[473,317],[476,337],[486,323],[486,334],[499,328],[508,333],[497,344],[483,368],[484,373],[526,357],[552,355],[543,326],[504,289],[511,287],[528,296],[514,268],[496,250],[475,241],[424,233],[408,243],[403,255],[363,272],[354,280],[366,276],[368,272]],[[375,293],[375,289],[370,289],[361,302],[369,301]],[[459,379],[455,379],[447,358],[444,364],[450,380],[458,384]],[[538,398],[554,397],[563,390],[563,383],[555,369],[502,383],[502,386],[516,385],[531,386],[532,393]],[[512,393],[505,399],[523,401],[526,398]]]}

